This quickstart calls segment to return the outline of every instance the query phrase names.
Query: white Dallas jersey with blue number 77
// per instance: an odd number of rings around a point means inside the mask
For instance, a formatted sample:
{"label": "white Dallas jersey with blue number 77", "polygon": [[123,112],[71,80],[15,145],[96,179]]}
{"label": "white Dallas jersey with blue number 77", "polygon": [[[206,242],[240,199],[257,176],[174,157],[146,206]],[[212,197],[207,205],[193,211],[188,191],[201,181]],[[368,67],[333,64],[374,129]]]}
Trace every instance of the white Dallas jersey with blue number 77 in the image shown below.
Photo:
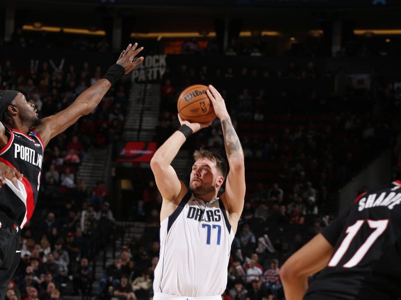
{"label": "white Dallas jersey with blue number 77", "polygon": [[223,294],[233,239],[223,201],[205,203],[188,191],[160,223],[153,291],[186,297]]}

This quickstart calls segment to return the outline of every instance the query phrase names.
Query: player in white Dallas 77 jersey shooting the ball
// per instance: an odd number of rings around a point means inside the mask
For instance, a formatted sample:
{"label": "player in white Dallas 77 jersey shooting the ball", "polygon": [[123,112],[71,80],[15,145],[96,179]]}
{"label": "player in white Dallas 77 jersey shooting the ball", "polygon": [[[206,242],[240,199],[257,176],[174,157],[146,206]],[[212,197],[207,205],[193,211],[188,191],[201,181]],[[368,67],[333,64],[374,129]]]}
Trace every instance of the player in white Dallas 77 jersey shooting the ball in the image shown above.
{"label": "player in white Dallas 77 jersey shooting the ball", "polygon": [[230,165],[226,189],[217,197],[227,173],[217,153],[195,150],[189,187],[171,166],[192,133],[209,123],[182,120],[154,154],[150,166],[163,197],[160,211],[160,259],[154,271],[154,300],[221,300],[226,289],[231,243],[244,207],[245,166],[240,140],[220,93],[207,94],[220,118]]}

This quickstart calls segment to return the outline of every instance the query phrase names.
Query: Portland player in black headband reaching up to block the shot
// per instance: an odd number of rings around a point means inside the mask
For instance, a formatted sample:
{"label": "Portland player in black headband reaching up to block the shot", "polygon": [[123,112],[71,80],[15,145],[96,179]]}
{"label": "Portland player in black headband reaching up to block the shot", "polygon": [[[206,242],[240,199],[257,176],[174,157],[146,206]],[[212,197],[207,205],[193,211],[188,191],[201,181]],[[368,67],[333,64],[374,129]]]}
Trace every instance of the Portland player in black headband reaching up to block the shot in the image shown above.
{"label": "Portland player in black headband reaching up to block the shot", "polygon": [[104,77],[66,109],[40,119],[35,104],[16,90],[0,91],[0,296],[3,299],[21,257],[18,232],[29,221],[39,193],[43,151],[57,134],[89,114],[109,88],[143,57],[137,43],[123,50]]}

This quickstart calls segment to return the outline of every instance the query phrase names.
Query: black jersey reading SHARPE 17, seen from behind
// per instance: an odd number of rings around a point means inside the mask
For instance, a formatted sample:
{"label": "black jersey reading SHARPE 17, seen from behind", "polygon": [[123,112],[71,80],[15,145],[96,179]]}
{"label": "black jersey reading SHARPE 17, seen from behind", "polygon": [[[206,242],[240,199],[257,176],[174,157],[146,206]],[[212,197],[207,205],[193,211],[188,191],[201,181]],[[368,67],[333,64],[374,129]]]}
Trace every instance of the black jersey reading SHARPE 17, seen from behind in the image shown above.
{"label": "black jersey reading SHARPE 17, seen from behind", "polygon": [[368,192],[326,227],[333,245],[305,299],[397,299],[401,289],[401,181]]}

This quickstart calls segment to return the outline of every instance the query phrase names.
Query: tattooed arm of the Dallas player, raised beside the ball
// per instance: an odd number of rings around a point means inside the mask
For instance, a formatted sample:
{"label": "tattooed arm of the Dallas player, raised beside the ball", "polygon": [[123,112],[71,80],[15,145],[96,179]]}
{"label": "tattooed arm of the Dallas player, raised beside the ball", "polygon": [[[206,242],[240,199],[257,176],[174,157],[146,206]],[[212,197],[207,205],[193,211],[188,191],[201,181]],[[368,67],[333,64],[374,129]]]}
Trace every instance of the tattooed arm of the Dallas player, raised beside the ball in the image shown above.
{"label": "tattooed arm of the Dallas player, raised beside the ball", "polygon": [[215,87],[209,85],[207,93],[212,100],[216,115],[220,118],[226,154],[230,165],[230,171],[227,175],[226,190],[222,198],[228,205],[230,214],[241,216],[244,208],[245,198],[245,162],[244,151],[238,138],[237,132],[231,122],[223,97]]}

